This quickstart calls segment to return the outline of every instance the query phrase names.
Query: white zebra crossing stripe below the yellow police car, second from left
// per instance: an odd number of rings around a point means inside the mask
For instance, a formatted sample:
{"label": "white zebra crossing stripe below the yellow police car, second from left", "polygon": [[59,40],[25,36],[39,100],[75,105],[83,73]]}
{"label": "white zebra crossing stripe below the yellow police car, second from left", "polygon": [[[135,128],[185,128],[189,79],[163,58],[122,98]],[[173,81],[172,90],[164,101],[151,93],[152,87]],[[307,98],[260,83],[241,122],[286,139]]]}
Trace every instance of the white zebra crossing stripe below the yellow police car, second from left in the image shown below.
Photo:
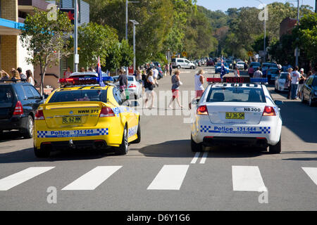
{"label": "white zebra crossing stripe below the yellow police car, second from left", "polygon": [[95,167],[62,190],[94,190],[122,166]]}

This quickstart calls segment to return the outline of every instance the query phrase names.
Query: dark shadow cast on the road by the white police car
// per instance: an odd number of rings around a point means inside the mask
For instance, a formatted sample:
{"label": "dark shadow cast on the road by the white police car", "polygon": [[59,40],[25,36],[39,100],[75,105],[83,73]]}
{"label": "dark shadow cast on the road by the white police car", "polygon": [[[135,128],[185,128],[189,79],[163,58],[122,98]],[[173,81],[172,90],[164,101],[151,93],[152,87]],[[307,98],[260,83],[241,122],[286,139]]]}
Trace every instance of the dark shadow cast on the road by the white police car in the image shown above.
{"label": "dark shadow cast on the road by the white police car", "polygon": [[[137,149],[135,149],[137,150]],[[245,148],[239,146],[206,148],[209,151],[208,158],[253,158],[268,154],[258,148]],[[190,148],[190,140],[166,141],[163,143],[146,146],[139,149],[147,157],[161,158],[192,158],[193,152]]]}

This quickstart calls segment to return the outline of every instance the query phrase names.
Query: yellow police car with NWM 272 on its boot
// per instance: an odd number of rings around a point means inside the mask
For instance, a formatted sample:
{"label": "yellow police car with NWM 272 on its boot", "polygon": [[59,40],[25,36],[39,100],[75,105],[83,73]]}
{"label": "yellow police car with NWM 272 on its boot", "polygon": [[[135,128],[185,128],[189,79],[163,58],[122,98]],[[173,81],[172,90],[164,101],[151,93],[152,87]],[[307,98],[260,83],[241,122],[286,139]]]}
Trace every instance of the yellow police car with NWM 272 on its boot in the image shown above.
{"label": "yellow police car with NWM 272 on its boot", "polygon": [[116,86],[100,86],[97,80],[60,79],[61,88],[39,105],[33,132],[37,157],[64,148],[114,147],[118,155],[125,155],[129,143],[139,143],[139,113],[125,106]]}

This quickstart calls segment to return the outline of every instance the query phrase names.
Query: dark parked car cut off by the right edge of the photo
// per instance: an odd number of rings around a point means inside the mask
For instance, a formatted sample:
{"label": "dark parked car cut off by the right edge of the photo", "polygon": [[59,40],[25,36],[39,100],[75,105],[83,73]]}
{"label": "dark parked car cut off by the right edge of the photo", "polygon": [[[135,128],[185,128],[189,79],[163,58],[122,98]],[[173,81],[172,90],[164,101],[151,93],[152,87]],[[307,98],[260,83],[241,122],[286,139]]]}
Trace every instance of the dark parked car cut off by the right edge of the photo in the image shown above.
{"label": "dark parked car cut off by the right edge of the photo", "polygon": [[317,103],[317,75],[311,75],[306,79],[302,91],[302,103],[308,101],[309,106]]}

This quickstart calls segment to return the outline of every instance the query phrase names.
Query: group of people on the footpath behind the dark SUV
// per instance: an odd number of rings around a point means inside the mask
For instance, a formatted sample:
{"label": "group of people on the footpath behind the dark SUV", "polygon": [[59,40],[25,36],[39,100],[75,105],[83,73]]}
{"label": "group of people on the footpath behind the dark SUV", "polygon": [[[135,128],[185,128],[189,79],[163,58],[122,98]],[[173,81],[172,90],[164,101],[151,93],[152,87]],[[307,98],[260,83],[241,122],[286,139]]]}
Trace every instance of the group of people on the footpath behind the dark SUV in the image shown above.
{"label": "group of people on the footpath behind the dark SUV", "polygon": [[35,79],[33,77],[33,73],[31,70],[27,70],[25,74],[22,72],[22,68],[12,68],[10,70],[11,75],[8,75],[8,73],[4,70],[0,70],[0,79],[1,80],[16,80],[16,81],[26,81],[35,85]]}

